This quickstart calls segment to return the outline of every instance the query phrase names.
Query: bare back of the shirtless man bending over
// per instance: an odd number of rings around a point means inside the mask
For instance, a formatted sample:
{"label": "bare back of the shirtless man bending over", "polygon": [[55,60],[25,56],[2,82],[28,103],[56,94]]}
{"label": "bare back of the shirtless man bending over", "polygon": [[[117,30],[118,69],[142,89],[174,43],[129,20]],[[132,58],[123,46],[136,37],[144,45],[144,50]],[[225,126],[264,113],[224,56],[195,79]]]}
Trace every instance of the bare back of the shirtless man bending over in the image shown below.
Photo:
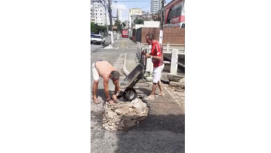
{"label": "bare back of the shirtless man bending over", "polygon": [[108,76],[110,75],[110,72],[116,71],[115,67],[110,65],[110,63],[108,63],[108,61],[97,61],[95,63],[95,67],[96,67],[99,75],[104,79],[108,78]]}

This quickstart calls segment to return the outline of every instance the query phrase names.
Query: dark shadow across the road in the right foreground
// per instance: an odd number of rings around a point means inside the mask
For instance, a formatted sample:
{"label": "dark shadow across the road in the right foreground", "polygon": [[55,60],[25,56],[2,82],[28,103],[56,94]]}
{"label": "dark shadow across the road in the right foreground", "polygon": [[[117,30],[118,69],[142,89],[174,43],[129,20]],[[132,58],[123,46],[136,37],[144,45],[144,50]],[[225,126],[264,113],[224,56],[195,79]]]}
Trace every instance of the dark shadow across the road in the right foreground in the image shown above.
{"label": "dark shadow across the road in the right foreground", "polygon": [[149,115],[128,131],[117,132],[115,152],[184,152],[184,115]]}

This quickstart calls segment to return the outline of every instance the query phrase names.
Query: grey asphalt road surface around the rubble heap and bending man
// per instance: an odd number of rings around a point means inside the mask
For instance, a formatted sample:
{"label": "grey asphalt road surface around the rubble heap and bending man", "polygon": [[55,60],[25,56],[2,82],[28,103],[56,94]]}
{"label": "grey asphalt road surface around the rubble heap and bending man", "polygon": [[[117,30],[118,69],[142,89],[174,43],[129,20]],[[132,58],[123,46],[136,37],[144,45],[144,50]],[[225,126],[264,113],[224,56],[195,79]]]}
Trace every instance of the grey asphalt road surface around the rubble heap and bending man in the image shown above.
{"label": "grey asphalt road surface around the rubble heap and bending man", "polygon": [[[116,41],[118,49],[100,49],[91,55],[91,63],[106,60],[123,75],[124,55],[135,57],[136,45],[129,39]],[[133,56],[132,56],[133,55]],[[129,65],[129,61],[126,61]],[[136,65],[131,65],[131,67]],[[91,82],[93,78],[91,77]],[[121,81],[120,81],[121,82]],[[109,92],[114,86],[109,81]],[[147,95],[151,86],[142,88]],[[103,80],[99,80],[97,91],[100,99],[105,99]],[[91,102],[91,152],[184,152],[184,106],[180,107],[167,93],[167,97],[150,102],[149,116],[138,126],[125,131],[107,131],[101,127],[102,106],[104,102]]]}

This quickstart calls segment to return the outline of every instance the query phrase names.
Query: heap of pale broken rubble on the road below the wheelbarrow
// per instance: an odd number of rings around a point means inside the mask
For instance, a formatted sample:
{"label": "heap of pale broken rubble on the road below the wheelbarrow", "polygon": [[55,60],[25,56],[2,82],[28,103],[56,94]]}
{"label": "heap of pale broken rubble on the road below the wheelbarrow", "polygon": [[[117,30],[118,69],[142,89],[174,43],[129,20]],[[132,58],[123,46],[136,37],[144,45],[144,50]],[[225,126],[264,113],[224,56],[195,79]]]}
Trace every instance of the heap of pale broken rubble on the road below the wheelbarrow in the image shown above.
{"label": "heap of pale broken rubble on the road below the wheelbarrow", "polygon": [[132,102],[117,102],[113,106],[106,103],[102,126],[109,131],[133,127],[147,117],[148,111],[147,104],[139,98]]}

